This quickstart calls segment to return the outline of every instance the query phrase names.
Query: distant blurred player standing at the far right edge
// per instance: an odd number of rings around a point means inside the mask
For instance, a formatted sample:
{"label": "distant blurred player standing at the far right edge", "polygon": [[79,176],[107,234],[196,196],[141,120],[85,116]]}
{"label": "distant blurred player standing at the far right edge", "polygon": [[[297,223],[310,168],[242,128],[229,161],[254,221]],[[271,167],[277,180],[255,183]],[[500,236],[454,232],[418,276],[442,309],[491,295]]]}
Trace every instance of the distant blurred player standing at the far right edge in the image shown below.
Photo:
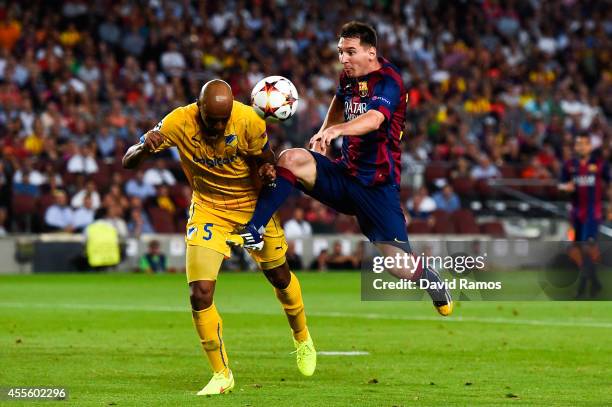
{"label": "distant blurred player standing at the far right edge", "polygon": [[586,296],[591,283],[591,297],[601,290],[597,277],[597,263],[601,254],[597,246],[597,233],[603,218],[605,184],[610,183],[610,167],[601,157],[592,153],[588,134],[579,134],[574,141],[575,157],[563,165],[559,189],[571,193],[570,222],[574,228],[575,245],[569,255],[580,269],[576,298]]}

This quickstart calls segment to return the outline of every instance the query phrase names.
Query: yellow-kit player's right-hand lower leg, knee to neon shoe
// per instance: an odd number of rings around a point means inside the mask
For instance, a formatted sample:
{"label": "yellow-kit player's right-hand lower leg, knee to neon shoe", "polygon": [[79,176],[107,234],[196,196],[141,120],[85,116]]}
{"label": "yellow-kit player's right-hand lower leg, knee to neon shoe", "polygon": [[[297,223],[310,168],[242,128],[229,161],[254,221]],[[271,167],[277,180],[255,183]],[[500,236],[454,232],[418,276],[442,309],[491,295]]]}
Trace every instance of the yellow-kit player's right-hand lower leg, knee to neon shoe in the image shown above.
{"label": "yellow-kit player's right-hand lower leg, knee to neon shoe", "polygon": [[304,376],[312,376],[317,367],[317,351],[306,326],[306,312],[300,281],[295,274],[289,271],[286,261],[278,267],[268,269],[265,267],[265,263],[262,264],[266,277],[274,286],[276,298],[287,315],[293,333],[298,370]]}

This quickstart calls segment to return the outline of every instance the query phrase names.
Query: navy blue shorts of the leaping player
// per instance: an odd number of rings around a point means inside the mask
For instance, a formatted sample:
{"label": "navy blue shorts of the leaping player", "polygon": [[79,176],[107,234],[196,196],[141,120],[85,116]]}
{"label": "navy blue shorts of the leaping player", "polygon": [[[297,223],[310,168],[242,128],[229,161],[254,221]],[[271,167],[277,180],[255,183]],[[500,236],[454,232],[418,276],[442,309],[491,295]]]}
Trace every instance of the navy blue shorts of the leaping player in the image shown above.
{"label": "navy blue shorts of the leaping player", "polygon": [[365,186],[329,158],[310,151],[317,163],[317,179],[307,195],[338,212],[357,217],[361,232],[371,242],[408,242],[399,189],[393,185]]}

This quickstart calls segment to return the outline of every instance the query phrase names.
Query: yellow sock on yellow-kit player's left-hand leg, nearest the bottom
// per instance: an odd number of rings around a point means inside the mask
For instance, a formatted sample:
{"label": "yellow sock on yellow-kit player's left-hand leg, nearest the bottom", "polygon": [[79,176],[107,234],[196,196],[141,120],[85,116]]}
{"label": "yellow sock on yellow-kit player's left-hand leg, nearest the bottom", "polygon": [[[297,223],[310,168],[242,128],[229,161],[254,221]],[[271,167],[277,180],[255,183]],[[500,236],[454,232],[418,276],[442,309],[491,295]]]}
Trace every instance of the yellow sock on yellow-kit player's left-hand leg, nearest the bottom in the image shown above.
{"label": "yellow sock on yellow-kit player's left-hand leg, nearest the bottom", "polygon": [[201,311],[192,310],[192,314],[202,348],[208,356],[213,371],[229,375],[229,362],[223,343],[223,320],[217,312],[217,307],[213,304]]}

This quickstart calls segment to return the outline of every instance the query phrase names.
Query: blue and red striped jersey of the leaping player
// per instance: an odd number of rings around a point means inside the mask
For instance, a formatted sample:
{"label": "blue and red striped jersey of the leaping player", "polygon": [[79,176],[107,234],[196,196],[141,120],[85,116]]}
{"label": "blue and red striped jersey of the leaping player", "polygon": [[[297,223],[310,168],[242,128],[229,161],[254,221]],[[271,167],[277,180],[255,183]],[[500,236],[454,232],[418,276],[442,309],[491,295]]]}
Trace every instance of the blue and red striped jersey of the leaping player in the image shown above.
{"label": "blue and red striped jersey of the leaping player", "polygon": [[385,116],[381,126],[368,134],[342,140],[342,157],[337,161],[364,185],[400,184],[400,138],[406,114],[406,90],[396,66],[378,58],[381,68],[350,78],[340,74],[336,98],[344,105],[344,120],[368,110]]}

